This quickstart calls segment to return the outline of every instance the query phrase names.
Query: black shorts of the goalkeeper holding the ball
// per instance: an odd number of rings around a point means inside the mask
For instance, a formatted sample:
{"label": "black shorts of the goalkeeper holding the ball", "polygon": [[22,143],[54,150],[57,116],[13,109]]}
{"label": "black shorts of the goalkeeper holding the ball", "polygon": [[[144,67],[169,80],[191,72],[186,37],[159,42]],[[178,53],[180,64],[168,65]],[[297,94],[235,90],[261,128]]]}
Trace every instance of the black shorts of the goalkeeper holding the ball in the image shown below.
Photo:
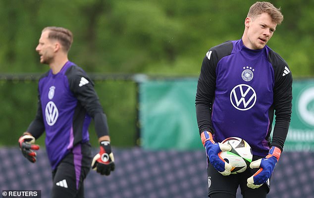
{"label": "black shorts of the goalkeeper holding the ball", "polygon": [[[253,156],[253,161],[263,158],[262,156]],[[243,198],[265,198],[269,192],[270,178],[269,181],[264,183],[260,188],[251,189],[247,187],[247,179],[254,175],[259,168],[252,169],[248,167],[244,172],[238,174],[230,174],[228,176],[221,175],[209,162],[208,159],[208,184],[209,184],[209,197],[212,194],[229,194],[236,197],[237,189],[240,186],[241,194]],[[231,197],[232,197],[231,196]]]}

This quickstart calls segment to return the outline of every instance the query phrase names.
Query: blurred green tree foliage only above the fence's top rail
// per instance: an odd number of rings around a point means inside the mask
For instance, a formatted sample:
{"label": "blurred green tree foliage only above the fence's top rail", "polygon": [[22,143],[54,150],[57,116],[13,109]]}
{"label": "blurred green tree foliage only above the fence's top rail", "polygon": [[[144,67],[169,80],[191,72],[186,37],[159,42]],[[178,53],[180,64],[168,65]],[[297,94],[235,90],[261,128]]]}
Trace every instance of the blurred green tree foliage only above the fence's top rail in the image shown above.
{"label": "blurred green tree foliage only above the fence's top rail", "polygon": [[[2,0],[0,72],[46,71],[35,51],[41,30],[64,26],[74,34],[71,60],[88,72],[197,75],[210,47],[241,38],[254,2]],[[314,1],[272,3],[284,21],[268,45],[295,76],[313,76]]]}

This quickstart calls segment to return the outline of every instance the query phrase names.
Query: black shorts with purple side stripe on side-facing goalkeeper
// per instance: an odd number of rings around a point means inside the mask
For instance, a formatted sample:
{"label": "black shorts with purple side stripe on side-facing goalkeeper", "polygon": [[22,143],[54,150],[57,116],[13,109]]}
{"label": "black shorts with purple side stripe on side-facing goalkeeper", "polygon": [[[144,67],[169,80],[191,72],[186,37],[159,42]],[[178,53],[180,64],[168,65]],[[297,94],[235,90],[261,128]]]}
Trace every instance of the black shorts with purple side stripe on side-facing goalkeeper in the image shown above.
{"label": "black shorts with purple side stripe on side-facing goalkeeper", "polygon": [[91,145],[76,145],[52,171],[52,198],[84,198],[83,181],[91,164]]}

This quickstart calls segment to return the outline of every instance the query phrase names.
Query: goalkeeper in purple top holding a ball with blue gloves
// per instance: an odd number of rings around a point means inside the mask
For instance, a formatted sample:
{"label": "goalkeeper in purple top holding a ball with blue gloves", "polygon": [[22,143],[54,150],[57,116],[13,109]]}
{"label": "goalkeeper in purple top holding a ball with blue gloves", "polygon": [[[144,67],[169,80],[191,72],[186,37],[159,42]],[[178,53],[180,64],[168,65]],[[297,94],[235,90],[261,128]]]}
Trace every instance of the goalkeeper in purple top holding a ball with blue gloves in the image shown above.
{"label": "goalkeeper in purple top holding a ball with blue gloves", "polygon": [[[235,198],[240,186],[244,198],[265,198],[270,178],[288,133],[292,106],[292,75],[287,63],[266,46],[280,9],[256,2],[244,21],[243,36],[215,46],[204,57],[196,94],[196,114],[208,156],[210,198]],[[272,139],[271,126],[275,117]],[[253,162],[240,174],[218,157],[239,137],[253,150]]]}

